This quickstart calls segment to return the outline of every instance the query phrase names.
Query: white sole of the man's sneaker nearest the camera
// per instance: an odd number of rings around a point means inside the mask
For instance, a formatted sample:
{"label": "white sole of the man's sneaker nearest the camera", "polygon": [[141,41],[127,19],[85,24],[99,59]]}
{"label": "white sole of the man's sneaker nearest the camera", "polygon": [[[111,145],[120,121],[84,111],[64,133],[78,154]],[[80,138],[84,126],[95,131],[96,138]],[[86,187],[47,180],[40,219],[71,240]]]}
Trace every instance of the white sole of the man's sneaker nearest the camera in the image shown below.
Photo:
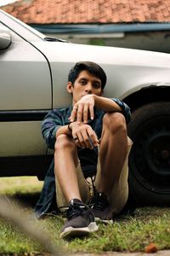
{"label": "white sole of the man's sneaker nearest the camera", "polygon": [[91,222],[88,227],[85,228],[66,228],[61,234],[61,238],[75,237],[75,236],[87,236],[89,233],[97,231],[99,228],[95,222]]}

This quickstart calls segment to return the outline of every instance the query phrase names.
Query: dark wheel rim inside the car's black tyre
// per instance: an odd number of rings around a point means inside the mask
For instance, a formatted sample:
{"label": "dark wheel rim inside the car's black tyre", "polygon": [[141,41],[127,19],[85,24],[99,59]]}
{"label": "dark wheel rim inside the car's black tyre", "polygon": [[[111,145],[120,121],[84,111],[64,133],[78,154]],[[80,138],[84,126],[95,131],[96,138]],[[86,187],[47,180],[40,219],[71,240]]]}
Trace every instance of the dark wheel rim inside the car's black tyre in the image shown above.
{"label": "dark wheel rim inside the car's black tyre", "polygon": [[[130,170],[146,189],[170,191],[170,118],[152,118],[140,125],[133,138]],[[135,170],[135,172],[134,172]]]}

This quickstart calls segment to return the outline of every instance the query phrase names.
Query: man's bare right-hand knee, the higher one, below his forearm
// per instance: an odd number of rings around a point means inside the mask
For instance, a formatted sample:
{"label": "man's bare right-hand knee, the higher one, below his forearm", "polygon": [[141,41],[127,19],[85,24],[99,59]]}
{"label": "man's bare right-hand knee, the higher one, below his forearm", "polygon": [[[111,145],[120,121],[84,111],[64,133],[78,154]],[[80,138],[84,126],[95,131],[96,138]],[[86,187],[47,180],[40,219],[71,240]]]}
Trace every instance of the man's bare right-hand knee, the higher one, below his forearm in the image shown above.
{"label": "man's bare right-hand knee, the higher one, below his forearm", "polygon": [[107,131],[111,131],[113,133],[115,133],[116,131],[127,132],[126,119],[122,115],[122,113],[105,113],[103,123]]}

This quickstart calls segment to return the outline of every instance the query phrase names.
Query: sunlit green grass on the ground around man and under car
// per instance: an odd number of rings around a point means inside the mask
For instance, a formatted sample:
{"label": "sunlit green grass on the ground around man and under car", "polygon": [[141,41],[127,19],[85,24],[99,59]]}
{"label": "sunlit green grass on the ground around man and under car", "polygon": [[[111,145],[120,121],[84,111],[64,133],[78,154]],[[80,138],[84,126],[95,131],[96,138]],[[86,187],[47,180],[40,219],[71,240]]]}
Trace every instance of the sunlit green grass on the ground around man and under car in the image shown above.
{"label": "sunlit green grass on the ground around man and under car", "polygon": [[[13,180],[13,182],[12,182]],[[9,188],[10,187],[10,188]],[[0,179],[0,194],[12,195],[18,193],[32,195],[39,193],[42,183],[34,177],[15,177]],[[31,192],[33,191],[33,192]],[[18,200],[20,201],[21,196]],[[35,202],[34,202],[35,203]],[[25,207],[26,212],[32,212],[32,202]],[[159,250],[170,249],[170,214],[169,208],[144,207],[138,208],[135,216],[115,219],[114,224],[99,224],[99,231],[85,238],[64,241],[59,238],[59,230],[64,219],[59,216],[48,216],[38,221],[42,230],[48,233],[56,247],[62,247],[71,253],[103,253],[110,251],[143,252],[144,247],[154,242]],[[37,241],[23,235],[11,224],[0,220],[0,253],[42,253],[44,249]]]}

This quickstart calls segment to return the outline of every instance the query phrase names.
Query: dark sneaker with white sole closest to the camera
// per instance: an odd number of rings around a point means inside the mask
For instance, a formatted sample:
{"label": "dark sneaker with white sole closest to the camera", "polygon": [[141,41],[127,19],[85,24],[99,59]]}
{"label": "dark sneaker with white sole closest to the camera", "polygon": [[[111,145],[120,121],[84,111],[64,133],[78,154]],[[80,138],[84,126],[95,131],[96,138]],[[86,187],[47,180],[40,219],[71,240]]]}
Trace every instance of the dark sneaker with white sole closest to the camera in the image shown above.
{"label": "dark sneaker with white sole closest to the camera", "polygon": [[61,230],[61,238],[86,236],[98,230],[94,220],[94,213],[78,199],[73,199],[69,202],[66,215],[68,220]]}

